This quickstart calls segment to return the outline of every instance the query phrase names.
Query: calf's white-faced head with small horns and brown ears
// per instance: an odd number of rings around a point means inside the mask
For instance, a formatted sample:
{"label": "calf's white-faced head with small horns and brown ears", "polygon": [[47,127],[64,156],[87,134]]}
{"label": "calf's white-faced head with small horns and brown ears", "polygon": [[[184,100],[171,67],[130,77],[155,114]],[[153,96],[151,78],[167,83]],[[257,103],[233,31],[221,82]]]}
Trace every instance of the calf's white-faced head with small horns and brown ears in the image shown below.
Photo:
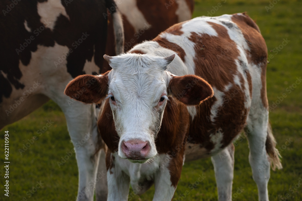
{"label": "calf's white-faced head with small horns and brown ears", "polygon": [[104,55],[112,70],[76,77],[66,86],[65,94],[85,103],[108,98],[120,137],[118,155],[131,162],[146,162],[157,154],[155,139],[169,97],[185,105],[199,105],[213,96],[211,86],[202,78],[178,77],[166,71],[174,57]]}

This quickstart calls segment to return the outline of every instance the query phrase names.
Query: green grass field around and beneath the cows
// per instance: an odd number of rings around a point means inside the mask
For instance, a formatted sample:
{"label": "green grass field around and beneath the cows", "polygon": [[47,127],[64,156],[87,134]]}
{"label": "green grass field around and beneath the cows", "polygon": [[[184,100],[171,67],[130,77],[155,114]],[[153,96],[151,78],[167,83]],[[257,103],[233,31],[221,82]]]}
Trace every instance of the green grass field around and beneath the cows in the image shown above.
{"label": "green grass field around and beneath the cows", "polygon": [[[221,6],[215,7],[218,3],[221,3]],[[200,0],[196,1],[194,17],[244,11],[256,20],[268,51],[273,51],[269,52],[273,58],[268,64],[267,92],[271,107],[270,122],[278,142],[277,148],[283,157],[284,168],[271,171],[268,183],[269,197],[270,200],[300,201],[302,186],[298,182],[299,179],[302,180],[302,84],[295,82],[297,78],[302,77],[302,2],[274,0],[270,5],[269,0]],[[284,39],[289,42],[282,46]],[[275,49],[278,46],[280,51]],[[290,86],[292,88],[289,88]],[[286,98],[279,101],[284,93]],[[44,133],[37,132],[50,120],[53,123]],[[1,165],[0,200],[74,200],[78,187],[75,155],[70,156],[60,167],[57,164],[61,162],[61,157],[73,148],[64,115],[58,106],[50,101],[21,121],[5,127],[0,134],[1,152],[4,152],[5,130],[10,134],[10,196],[8,198],[3,195],[5,173]],[[37,138],[33,138],[34,136]],[[242,139],[242,142],[237,142],[235,148],[233,200],[258,200],[257,187],[248,162],[248,144],[244,137]],[[290,143],[286,143],[287,141]],[[26,143],[30,143],[28,148],[24,147]],[[27,149],[24,152],[20,152],[25,148]],[[0,163],[3,164],[3,161],[1,157]],[[199,175],[205,178],[198,184],[195,181],[198,181]],[[192,183],[196,184],[193,188]],[[36,189],[32,191],[33,186],[39,187],[36,192]],[[130,198],[152,200],[153,193],[154,187],[142,196]],[[210,159],[184,165],[173,200],[217,200],[214,170]]]}

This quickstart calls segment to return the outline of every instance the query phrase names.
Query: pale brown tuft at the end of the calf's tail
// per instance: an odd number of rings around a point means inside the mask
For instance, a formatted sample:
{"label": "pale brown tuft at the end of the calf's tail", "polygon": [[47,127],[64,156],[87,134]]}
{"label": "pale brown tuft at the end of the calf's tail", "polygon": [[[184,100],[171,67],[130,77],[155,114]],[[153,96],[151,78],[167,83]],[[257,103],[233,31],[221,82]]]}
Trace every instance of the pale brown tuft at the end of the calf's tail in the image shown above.
{"label": "pale brown tuft at the end of the calf's tail", "polygon": [[275,137],[273,136],[272,130],[271,130],[271,125],[268,123],[268,130],[267,130],[267,137],[266,137],[266,143],[265,143],[265,148],[266,152],[269,155],[269,161],[271,163],[271,169],[273,171],[278,168],[279,170],[282,169],[282,164],[281,164],[281,155],[276,149],[276,140]]}

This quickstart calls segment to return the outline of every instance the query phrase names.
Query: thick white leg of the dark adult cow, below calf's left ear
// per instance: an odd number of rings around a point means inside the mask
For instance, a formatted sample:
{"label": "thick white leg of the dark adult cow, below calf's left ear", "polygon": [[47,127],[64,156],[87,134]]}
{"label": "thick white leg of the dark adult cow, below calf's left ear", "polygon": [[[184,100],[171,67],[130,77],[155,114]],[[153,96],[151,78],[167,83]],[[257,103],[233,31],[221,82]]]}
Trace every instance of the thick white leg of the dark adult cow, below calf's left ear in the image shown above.
{"label": "thick white leg of the dark adult cow, below calf's left ear", "polygon": [[[76,151],[79,168],[77,200],[93,200],[95,176],[99,153],[95,153],[98,142],[98,128],[95,105],[70,99],[62,93],[47,94],[64,112],[69,135]],[[66,164],[65,164],[66,165]]]}

